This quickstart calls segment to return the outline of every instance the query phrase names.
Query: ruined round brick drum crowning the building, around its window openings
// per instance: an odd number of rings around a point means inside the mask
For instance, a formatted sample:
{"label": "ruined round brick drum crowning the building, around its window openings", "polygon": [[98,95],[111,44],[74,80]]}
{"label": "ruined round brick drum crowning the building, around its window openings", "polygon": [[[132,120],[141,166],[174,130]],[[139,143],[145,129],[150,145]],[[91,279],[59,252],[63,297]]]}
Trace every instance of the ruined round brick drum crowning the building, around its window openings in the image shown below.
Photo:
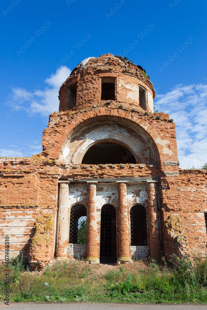
{"label": "ruined round brick drum crowning the building, around its window openings", "polygon": [[[147,107],[151,112],[150,103],[155,97],[151,81],[145,78],[142,70],[135,64],[127,64],[112,54],[102,55],[88,61],[86,69],[76,69],[63,83],[59,92],[60,111],[73,108],[68,100],[70,88],[77,88],[76,108],[87,108],[93,105],[103,105],[106,100],[101,100],[101,78],[116,78],[116,103],[130,109],[140,108],[137,95],[138,85],[147,90]],[[142,108],[140,108],[142,110]]]}

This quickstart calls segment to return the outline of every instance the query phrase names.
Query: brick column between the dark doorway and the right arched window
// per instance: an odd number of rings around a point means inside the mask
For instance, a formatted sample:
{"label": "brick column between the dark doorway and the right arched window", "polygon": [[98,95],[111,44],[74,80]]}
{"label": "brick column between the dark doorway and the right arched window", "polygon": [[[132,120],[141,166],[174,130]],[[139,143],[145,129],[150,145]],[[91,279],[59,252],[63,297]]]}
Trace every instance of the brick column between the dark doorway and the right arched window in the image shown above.
{"label": "brick column between the dark doorway and the right arched window", "polygon": [[129,225],[127,208],[127,186],[119,183],[119,258],[118,263],[132,262],[129,248]]}

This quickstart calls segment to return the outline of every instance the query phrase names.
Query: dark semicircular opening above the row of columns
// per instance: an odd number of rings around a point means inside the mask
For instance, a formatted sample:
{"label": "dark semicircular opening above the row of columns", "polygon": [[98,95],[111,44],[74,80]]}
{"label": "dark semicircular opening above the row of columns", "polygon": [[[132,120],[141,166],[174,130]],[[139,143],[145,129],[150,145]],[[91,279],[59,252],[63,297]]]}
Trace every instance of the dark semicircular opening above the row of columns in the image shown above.
{"label": "dark semicircular opening above the row of columns", "polygon": [[82,164],[136,164],[136,159],[127,148],[117,143],[100,143],[85,153]]}

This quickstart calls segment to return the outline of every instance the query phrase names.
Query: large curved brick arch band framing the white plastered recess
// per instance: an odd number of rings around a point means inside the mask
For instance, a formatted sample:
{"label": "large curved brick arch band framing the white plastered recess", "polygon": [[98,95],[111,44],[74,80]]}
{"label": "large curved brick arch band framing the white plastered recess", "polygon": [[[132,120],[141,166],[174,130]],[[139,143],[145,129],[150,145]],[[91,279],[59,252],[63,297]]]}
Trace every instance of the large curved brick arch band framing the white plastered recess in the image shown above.
{"label": "large curved brick arch band framing the white plastered recess", "polygon": [[[68,113],[66,112],[65,117],[68,117]],[[121,109],[112,110],[103,107],[87,111],[87,113],[79,113],[77,116],[74,116],[74,118],[71,119],[70,122],[61,130],[55,143],[51,146],[49,133],[52,131],[52,129],[47,128],[45,134],[43,135],[43,153],[46,153],[47,157],[51,159],[59,158],[61,148],[65,143],[67,143],[68,139],[70,139],[77,131],[92,124],[94,121],[110,121],[115,123],[121,122],[125,125],[127,124],[133,129],[136,129],[140,132],[144,139],[146,139],[148,144],[151,145],[151,148],[155,150],[158,160],[160,161],[160,154],[165,147],[163,144],[166,140],[160,139],[156,129],[154,129],[150,123],[144,120],[142,115]]]}

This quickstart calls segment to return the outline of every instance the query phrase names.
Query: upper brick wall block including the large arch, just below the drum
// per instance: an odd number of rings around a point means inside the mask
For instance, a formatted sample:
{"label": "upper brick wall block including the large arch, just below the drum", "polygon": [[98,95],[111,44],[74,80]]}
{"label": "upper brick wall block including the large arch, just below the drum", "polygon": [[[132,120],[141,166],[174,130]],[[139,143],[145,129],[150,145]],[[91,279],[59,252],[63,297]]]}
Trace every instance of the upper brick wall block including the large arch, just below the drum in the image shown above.
{"label": "upper brick wall block including the large arch, just below the drum", "polygon": [[[150,117],[145,117],[138,113],[133,113],[117,108],[110,109],[106,107],[99,107],[89,111],[76,113],[77,115],[71,115],[71,118],[68,112],[61,112],[60,121],[57,121],[58,113],[53,113],[50,115],[48,128],[43,131],[43,154],[47,158],[58,159],[63,145],[66,144],[68,140],[82,128],[92,124],[93,122],[110,121],[127,124],[131,128],[139,131],[140,134],[145,137],[151,147],[155,150],[158,161],[160,163],[165,160],[178,160],[176,140],[173,142],[171,138],[170,143],[171,145],[174,144],[175,147],[172,145],[174,148],[174,153],[172,151],[169,153],[165,147],[165,144],[169,141],[162,139],[162,136],[159,135],[158,131],[156,130],[156,122],[154,125],[152,124],[153,126],[151,125]],[[59,122],[61,122],[61,125]],[[174,124],[170,126],[174,126]]]}

